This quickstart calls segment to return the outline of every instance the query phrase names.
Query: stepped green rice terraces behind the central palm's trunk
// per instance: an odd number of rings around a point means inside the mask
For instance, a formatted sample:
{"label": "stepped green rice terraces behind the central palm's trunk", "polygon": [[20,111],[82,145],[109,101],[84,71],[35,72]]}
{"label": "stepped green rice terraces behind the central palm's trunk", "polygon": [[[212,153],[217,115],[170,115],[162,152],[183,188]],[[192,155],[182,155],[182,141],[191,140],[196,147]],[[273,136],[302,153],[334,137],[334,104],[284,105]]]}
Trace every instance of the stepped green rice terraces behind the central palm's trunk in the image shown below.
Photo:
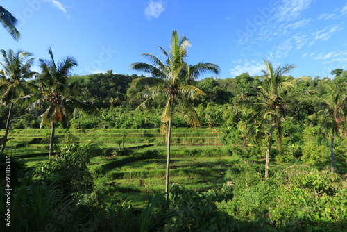
{"label": "stepped green rice terraces behind the central palm's trunk", "polygon": [[[24,158],[31,167],[40,165],[48,160],[50,132],[10,130],[9,138],[13,139],[6,144],[6,153]],[[147,194],[164,190],[167,147],[158,129],[87,129],[73,133],[57,129],[58,146],[62,147],[71,134],[81,144],[94,143],[103,148],[103,155],[92,158],[90,170],[96,182],[114,188],[115,196],[136,204]],[[232,157],[221,142],[222,135],[218,129],[173,129],[170,182],[194,190],[223,185]]]}

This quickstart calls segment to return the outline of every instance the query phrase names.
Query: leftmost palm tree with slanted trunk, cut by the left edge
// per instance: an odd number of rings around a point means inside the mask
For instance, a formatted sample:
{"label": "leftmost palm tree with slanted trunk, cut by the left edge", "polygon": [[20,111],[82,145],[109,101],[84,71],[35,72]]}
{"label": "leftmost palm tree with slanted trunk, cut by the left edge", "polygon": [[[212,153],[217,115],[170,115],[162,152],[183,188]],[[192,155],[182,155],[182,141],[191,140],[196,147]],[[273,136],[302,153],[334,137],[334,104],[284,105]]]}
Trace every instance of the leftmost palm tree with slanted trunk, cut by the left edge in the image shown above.
{"label": "leftmost palm tree with slanted trunk, cut by the left edge", "polygon": [[8,129],[10,128],[10,120],[12,118],[12,100],[29,94],[31,90],[35,90],[37,87],[26,82],[26,79],[32,78],[33,75],[36,74],[36,72],[30,69],[35,59],[32,57],[32,53],[22,50],[14,52],[11,49],[9,49],[8,52],[1,49],[0,52],[3,58],[3,62],[0,62],[3,67],[3,71],[0,74],[1,103],[3,105],[10,105],[5,135],[3,136],[4,142],[1,147],[1,151],[3,151],[6,147]]}

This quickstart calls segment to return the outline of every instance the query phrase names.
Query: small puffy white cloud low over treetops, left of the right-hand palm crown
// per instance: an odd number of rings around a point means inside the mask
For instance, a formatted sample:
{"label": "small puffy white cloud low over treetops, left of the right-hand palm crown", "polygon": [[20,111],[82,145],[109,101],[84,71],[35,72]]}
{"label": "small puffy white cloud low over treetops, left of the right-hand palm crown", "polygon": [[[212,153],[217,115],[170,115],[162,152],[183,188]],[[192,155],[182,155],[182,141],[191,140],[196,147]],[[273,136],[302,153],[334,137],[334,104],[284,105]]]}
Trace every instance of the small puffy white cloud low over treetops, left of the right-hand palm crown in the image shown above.
{"label": "small puffy white cloud low over treetops, left of the right-hand palm crown", "polygon": [[261,75],[262,70],[265,69],[264,62],[255,60],[238,60],[239,65],[230,70],[231,76],[239,76],[248,72],[250,76]]}

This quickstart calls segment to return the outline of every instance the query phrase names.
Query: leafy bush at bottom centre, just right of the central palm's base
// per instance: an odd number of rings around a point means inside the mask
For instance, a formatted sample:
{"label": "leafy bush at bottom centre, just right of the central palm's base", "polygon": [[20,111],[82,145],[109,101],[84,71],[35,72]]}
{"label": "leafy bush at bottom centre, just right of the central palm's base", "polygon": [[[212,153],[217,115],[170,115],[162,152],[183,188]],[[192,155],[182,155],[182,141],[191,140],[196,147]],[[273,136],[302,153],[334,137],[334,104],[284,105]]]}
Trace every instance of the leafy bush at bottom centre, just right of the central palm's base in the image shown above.
{"label": "leafy bush at bottom centre, just right of the central palm's base", "polygon": [[232,188],[224,185],[221,190],[199,194],[183,186],[173,185],[170,190],[171,212],[176,212],[164,226],[166,231],[232,231],[230,216],[218,210],[215,202],[232,199]]}

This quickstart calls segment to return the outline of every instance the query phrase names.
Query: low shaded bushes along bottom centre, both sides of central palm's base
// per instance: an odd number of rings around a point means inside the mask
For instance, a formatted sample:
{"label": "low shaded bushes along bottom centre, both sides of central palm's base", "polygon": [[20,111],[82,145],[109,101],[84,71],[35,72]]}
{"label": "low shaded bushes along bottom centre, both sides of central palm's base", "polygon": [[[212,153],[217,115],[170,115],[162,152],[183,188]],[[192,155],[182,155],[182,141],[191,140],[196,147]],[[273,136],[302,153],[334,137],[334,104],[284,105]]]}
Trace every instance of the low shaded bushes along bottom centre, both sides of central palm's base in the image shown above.
{"label": "low shaded bushes along bottom centre, both sides of central palm's base", "polygon": [[173,185],[169,200],[156,194],[140,212],[127,204],[110,210],[110,225],[113,231],[234,231],[231,217],[215,204],[231,198],[228,185],[201,194]]}

